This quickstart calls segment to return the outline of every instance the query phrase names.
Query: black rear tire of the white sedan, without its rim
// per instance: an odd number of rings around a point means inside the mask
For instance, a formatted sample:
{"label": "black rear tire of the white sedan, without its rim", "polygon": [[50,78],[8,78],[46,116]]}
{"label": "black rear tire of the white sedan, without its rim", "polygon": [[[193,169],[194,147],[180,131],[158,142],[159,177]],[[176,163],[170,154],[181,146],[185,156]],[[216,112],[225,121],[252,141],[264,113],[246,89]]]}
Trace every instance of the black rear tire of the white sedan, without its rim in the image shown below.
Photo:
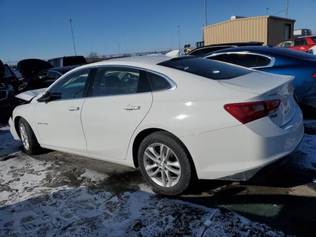
{"label": "black rear tire of the white sedan, without its rim", "polygon": [[[181,175],[177,184],[172,187],[163,187],[155,183],[148,175],[145,164],[144,154],[146,149],[155,143],[160,143],[172,150],[175,156],[178,158],[181,166]],[[190,154],[188,153],[182,142],[174,135],[166,131],[154,132],[148,135],[140,144],[138,149],[138,163],[143,176],[146,181],[152,185],[152,187],[162,195],[180,195],[184,193],[194,177],[194,167],[191,162]]]}

